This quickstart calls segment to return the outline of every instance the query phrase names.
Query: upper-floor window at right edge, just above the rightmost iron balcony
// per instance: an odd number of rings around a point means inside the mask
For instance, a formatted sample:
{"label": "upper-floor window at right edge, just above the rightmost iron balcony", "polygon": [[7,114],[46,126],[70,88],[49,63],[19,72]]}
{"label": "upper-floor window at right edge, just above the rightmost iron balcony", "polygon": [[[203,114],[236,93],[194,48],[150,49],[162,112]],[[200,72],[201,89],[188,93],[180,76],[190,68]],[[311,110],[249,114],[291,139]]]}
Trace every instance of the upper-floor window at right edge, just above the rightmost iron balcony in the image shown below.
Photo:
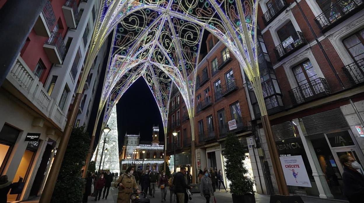
{"label": "upper-floor window at right edge, just above the rightmost iron balcony", "polygon": [[364,58],[364,30],[346,38],[343,43],[354,61]]}

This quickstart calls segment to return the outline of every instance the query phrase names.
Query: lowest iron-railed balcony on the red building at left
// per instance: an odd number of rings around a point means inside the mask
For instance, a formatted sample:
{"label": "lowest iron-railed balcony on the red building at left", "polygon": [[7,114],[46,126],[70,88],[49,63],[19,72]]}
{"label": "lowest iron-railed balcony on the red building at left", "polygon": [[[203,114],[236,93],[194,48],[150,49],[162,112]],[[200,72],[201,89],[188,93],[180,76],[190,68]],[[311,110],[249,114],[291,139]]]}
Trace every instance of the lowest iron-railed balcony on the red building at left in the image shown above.
{"label": "lowest iron-railed balcony on the red building at left", "polygon": [[52,32],[51,37],[44,43],[43,48],[52,63],[62,64],[64,57],[66,57],[66,46],[61,33]]}

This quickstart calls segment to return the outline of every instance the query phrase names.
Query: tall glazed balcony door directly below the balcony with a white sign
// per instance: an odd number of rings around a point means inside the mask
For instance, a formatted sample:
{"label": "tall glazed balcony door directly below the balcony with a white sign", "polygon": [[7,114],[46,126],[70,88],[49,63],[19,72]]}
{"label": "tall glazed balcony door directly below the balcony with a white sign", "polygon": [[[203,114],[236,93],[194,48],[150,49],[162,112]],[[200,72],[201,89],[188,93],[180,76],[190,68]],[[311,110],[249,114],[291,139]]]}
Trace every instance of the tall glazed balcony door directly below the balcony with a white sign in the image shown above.
{"label": "tall glazed balcony door directly below the balcony with a white sign", "polygon": [[309,60],[293,67],[292,71],[302,97],[312,97],[323,89],[321,82],[316,80],[318,78],[317,74]]}

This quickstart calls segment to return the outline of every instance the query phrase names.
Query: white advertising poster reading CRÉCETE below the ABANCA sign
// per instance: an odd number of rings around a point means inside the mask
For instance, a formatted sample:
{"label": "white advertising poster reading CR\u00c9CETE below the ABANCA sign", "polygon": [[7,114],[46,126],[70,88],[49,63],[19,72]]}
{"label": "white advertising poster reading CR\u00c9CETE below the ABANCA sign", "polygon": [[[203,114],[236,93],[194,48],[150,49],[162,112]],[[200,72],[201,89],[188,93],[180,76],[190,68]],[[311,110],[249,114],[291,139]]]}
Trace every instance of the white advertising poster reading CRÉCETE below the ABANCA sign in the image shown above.
{"label": "white advertising poster reading CR\u00c9CETE below the ABANCA sign", "polygon": [[280,157],[287,185],[312,187],[302,156]]}

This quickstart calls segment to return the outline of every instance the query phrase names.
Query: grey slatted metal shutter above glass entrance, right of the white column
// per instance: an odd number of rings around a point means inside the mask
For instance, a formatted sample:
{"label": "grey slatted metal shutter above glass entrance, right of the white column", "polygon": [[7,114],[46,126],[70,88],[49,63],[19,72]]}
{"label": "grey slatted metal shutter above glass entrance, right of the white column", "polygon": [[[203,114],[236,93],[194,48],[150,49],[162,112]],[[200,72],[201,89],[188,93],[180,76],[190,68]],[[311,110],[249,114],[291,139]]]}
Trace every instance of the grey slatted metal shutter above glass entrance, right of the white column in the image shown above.
{"label": "grey slatted metal shutter above glass entrance, right of the white column", "polygon": [[303,117],[302,121],[308,135],[349,128],[340,108]]}

